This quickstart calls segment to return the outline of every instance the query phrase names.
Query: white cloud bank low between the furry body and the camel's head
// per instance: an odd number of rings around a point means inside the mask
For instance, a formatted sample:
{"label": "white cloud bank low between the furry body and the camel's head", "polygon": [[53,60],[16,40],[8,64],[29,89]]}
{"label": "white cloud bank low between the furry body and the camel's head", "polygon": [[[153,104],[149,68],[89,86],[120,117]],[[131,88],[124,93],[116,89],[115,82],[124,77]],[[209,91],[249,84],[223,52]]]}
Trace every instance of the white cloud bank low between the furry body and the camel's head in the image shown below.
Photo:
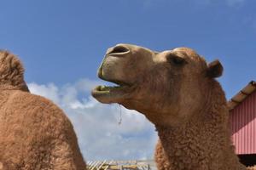
{"label": "white cloud bank low between the furry body and the camel's head", "polygon": [[154,126],[137,111],[102,105],[90,97],[90,89],[99,83],[82,79],[62,87],[35,82],[28,87],[32,94],[53,100],[66,112],[86,160],[153,158],[157,139]]}

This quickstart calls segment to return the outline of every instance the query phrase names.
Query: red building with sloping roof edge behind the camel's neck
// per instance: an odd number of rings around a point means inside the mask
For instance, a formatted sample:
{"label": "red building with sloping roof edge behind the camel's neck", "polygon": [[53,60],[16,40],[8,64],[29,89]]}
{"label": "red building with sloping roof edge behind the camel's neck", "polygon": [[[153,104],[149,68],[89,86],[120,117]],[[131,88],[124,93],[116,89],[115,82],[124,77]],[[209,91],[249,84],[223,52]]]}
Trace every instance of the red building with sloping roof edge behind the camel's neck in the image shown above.
{"label": "red building with sloping roof edge behind the camel's neck", "polygon": [[236,154],[245,165],[256,164],[256,82],[252,81],[228,102]]}

